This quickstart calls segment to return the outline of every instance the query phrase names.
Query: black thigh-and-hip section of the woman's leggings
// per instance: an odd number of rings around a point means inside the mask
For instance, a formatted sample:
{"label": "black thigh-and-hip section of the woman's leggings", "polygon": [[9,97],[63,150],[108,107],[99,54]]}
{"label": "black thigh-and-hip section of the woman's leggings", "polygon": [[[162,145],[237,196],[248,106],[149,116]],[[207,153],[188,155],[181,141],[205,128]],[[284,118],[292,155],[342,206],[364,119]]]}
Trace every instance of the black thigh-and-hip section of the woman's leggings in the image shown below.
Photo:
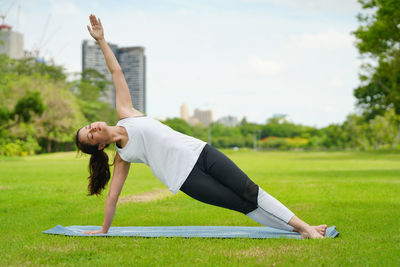
{"label": "black thigh-and-hip section of the woman's leggings", "polygon": [[204,147],[180,190],[201,202],[244,214],[257,208],[258,185],[209,145]]}

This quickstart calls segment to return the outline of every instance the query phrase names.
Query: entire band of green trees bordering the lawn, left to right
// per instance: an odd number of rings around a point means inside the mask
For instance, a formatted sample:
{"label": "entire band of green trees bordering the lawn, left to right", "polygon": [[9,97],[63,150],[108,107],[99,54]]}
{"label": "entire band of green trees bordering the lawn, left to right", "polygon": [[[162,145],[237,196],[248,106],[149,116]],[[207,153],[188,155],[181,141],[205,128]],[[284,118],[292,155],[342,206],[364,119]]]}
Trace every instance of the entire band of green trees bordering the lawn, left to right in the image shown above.
{"label": "entire band of green trees bordering the lawn, left to right", "polygon": [[[172,118],[164,123],[220,148],[257,149],[400,149],[400,6],[398,0],[359,0],[362,12],[353,34],[364,64],[354,89],[355,114],[341,124],[316,128],[280,123],[247,122],[236,127],[213,123],[190,126]],[[1,45],[1,44],[0,44]],[[102,101],[110,82],[93,69],[68,81],[60,66],[33,58],[0,55],[0,155],[74,150],[82,125],[114,125],[115,109]]]}

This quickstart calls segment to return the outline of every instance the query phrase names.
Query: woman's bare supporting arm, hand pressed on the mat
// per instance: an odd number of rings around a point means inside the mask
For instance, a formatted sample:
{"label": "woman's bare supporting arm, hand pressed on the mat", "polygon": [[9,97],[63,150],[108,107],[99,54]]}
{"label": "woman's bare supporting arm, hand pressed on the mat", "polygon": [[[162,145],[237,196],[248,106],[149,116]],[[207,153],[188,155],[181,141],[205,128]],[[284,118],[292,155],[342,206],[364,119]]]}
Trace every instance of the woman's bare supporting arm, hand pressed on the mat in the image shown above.
{"label": "woman's bare supporting arm, hand pressed on the mat", "polygon": [[114,173],[110,185],[110,191],[106,198],[103,227],[99,231],[86,231],[85,234],[105,234],[114,219],[115,209],[122,186],[129,173],[130,163],[121,159],[119,154],[115,156]]}

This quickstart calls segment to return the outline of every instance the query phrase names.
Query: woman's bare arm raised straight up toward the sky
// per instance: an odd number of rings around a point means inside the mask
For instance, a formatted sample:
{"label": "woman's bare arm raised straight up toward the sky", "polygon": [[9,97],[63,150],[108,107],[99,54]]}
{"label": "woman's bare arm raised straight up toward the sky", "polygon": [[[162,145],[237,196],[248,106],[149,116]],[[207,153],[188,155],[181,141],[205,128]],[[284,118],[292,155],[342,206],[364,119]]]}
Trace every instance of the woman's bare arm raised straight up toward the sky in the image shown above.
{"label": "woman's bare arm raised straight up toward the sky", "polygon": [[104,30],[101,24],[100,18],[90,15],[90,24],[92,28],[87,26],[90,35],[97,41],[101,51],[104,54],[104,58],[107,63],[108,70],[111,72],[115,94],[116,94],[116,108],[118,116],[120,118],[141,116],[143,115],[140,111],[136,110],[132,105],[131,95],[129,93],[128,84],[126,83],[124,73],[122,72],[121,66],[118,63],[114,53],[110,46],[104,39]]}

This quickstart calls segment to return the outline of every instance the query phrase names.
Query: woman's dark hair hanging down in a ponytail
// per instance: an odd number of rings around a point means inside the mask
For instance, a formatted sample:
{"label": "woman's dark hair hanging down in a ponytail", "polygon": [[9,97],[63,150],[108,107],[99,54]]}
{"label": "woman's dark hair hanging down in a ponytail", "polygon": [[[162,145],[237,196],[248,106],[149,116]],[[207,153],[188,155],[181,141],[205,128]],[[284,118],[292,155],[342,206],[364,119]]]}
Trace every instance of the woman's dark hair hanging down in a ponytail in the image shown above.
{"label": "woman's dark hair hanging down in a ponytail", "polygon": [[[90,154],[89,161],[89,196],[100,195],[110,180],[110,165],[108,155],[104,150],[99,150],[97,145],[87,145],[79,141],[79,131],[76,132],[75,143],[80,151]],[[108,145],[107,145],[108,146]],[[106,147],[107,147],[106,146]]]}

